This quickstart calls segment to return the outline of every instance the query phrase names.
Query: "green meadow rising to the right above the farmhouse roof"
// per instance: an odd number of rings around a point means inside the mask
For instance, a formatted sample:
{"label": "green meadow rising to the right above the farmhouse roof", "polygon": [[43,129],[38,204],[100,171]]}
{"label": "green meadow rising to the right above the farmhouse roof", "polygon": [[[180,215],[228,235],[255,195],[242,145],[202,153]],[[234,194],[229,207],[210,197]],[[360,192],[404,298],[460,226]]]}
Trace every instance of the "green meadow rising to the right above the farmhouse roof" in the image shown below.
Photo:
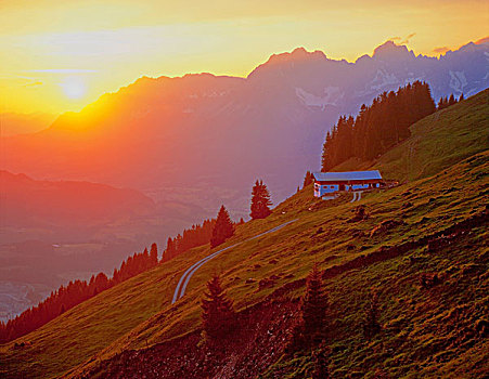
{"label": "green meadow rising to the right above the farmhouse roof", "polygon": [[411,138],[374,162],[350,159],[335,171],[378,169],[386,179],[433,175],[489,146],[489,89],[436,112],[411,127]]}

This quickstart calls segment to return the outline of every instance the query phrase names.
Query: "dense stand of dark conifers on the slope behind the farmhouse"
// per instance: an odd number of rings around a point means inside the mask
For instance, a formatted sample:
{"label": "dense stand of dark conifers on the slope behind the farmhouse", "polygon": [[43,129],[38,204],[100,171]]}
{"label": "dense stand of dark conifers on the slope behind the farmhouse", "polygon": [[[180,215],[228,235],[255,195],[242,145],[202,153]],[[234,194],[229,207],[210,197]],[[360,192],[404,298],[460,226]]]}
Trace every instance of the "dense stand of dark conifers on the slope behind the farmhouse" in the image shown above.
{"label": "dense stand of dark conifers on the slope behind the farmhouse", "polygon": [[452,94],[449,99],[440,99],[437,107],[429,86],[422,81],[409,83],[396,92],[382,93],[370,106],[363,104],[356,118],[339,117],[326,133],[321,171],[329,171],[353,157],[363,161],[378,157],[408,139],[411,125],[455,103]]}

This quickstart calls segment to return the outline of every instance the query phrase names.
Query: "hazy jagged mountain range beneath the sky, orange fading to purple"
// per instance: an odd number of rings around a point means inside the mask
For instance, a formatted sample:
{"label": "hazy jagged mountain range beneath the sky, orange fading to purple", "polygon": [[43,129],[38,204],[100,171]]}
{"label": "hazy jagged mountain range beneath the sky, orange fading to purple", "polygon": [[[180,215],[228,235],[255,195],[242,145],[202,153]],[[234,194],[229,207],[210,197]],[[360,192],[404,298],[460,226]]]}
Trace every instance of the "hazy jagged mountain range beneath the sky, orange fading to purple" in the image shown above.
{"label": "hazy jagged mountain range beneath the sky, orange fading to purple", "polygon": [[467,97],[488,87],[488,57],[484,40],[439,58],[387,41],[355,63],[299,48],[247,78],[141,78],[42,132],[3,139],[1,165],[35,178],[130,186],[209,215],[224,202],[244,215],[257,178],[276,202],[319,168],[325,132],[340,114],[415,80],[429,83],[435,101]]}

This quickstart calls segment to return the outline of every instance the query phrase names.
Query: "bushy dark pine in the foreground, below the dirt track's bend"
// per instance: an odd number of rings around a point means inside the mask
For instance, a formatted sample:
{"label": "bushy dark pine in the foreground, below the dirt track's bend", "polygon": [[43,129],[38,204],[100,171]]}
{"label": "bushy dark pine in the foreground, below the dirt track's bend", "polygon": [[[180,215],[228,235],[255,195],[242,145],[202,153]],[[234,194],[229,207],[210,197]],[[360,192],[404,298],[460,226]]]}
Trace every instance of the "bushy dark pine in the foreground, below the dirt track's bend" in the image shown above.
{"label": "bushy dark pine in the foreground, below the dirt track's bend", "polygon": [[221,287],[220,277],[215,275],[207,282],[207,292],[202,299],[202,326],[207,341],[216,341],[229,334],[234,324],[233,302]]}

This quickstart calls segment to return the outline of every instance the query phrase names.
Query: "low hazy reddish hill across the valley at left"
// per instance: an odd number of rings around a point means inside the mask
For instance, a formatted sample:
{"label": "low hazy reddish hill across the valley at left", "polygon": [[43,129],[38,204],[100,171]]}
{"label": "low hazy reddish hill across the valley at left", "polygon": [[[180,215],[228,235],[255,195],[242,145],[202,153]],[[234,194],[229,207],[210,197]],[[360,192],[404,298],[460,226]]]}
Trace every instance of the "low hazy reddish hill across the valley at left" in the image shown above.
{"label": "low hazy reddish hill across the valley at left", "polygon": [[67,181],[36,181],[0,171],[0,227],[79,226],[149,214],[154,201],[134,190]]}

